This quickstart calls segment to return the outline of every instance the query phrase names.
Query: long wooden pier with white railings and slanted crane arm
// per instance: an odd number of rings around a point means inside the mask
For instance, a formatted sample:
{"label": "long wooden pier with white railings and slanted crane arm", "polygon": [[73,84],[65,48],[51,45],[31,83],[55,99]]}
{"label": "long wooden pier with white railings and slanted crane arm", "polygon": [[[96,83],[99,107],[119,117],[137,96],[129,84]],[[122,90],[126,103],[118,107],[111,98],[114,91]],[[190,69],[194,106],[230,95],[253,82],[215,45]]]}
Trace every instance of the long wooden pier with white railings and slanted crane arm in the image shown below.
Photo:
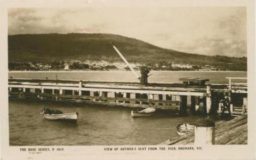
{"label": "long wooden pier with white railings and slanted crane arm", "polygon": [[[61,79],[9,78],[9,98],[66,101],[170,110],[180,115],[218,115],[224,112],[221,99],[228,97],[229,113],[234,116],[247,113],[247,83],[234,83],[238,77],[227,77],[229,84],[205,84],[209,79],[182,78],[183,83],[148,83],[149,70],[143,68],[139,76],[122,53],[124,60],[139,82],[93,82]],[[241,78],[240,78],[241,79]],[[246,78],[242,78],[246,79]],[[188,107],[189,106],[189,107]]]}

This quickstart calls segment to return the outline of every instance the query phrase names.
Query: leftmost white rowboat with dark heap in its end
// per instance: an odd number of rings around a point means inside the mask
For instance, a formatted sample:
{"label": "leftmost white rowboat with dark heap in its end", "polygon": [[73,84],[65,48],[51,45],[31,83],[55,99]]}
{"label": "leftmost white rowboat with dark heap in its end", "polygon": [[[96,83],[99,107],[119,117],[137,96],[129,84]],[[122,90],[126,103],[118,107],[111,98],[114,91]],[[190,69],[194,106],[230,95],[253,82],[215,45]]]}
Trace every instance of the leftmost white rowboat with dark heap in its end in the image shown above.
{"label": "leftmost white rowboat with dark heap in its end", "polygon": [[68,122],[75,122],[75,123],[78,117],[77,111],[75,113],[49,114],[45,112],[45,110],[43,110],[41,114],[43,114],[45,119],[55,120],[55,121],[68,121]]}

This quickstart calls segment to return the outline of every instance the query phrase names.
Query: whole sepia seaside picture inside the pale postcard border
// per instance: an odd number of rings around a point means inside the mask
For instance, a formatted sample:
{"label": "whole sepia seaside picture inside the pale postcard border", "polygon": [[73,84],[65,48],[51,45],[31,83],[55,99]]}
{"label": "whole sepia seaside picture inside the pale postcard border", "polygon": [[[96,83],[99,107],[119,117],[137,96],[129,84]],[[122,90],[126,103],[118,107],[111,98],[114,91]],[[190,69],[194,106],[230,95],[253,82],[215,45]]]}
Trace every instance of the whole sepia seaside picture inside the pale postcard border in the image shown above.
{"label": "whole sepia seaside picture inside the pale postcard border", "polygon": [[39,155],[54,150],[46,146],[129,152],[254,143],[246,6],[6,12],[9,147]]}

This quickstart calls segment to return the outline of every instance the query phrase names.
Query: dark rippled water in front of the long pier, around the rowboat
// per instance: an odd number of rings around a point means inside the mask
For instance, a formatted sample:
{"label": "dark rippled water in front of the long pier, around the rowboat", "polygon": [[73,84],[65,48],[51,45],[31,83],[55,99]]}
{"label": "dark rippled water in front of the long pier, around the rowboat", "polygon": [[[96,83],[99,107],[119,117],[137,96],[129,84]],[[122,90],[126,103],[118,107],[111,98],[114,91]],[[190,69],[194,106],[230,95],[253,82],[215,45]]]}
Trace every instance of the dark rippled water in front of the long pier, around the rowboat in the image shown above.
{"label": "dark rippled water in front of the long pier, around the rowboat", "polygon": [[[78,111],[77,124],[44,119],[39,114],[43,107]],[[175,126],[197,118],[163,111],[132,118],[131,109],[125,107],[9,100],[10,145],[157,145],[178,136]]]}

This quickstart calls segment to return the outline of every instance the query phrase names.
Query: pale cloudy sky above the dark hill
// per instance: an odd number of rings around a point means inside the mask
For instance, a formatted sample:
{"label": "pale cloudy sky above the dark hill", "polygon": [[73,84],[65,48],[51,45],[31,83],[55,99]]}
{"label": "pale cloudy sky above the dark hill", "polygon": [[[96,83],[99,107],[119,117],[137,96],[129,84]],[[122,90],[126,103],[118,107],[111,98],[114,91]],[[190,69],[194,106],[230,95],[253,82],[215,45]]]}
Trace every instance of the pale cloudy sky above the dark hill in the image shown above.
{"label": "pale cloudy sky above the dark hill", "polygon": [[110,33],[182,52],[242,57],[246,8],[9,9],[8,33]]}

